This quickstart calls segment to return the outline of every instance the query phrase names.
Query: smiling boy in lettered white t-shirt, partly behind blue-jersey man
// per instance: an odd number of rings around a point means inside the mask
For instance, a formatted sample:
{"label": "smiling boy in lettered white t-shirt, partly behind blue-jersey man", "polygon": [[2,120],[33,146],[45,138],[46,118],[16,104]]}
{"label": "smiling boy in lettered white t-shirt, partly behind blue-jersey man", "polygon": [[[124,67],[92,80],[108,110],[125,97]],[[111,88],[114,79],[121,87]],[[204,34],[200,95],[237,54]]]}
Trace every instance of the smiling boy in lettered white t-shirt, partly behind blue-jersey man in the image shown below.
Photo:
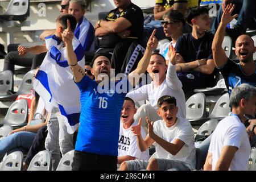
{"label": "smiling boy in lettered white t-shirt, partly behind blue-jersey man", "polygon": [[[117,164],[121,164],[126,160],[134,159],[149,159],[148,150],[142,152],[139,150],[137,145],[137,137],[131,131],[131,127],[138,125],[138,122],[134,121],[133,116],[137,109],[135,107],[134,101],[131,98],[126,97],[125,102],[123,102],[123,107],[121,111],[121,123],[120,132],[118,140],[118,160]],[[142,138],[146,137],[146,133],[142,130]]]}

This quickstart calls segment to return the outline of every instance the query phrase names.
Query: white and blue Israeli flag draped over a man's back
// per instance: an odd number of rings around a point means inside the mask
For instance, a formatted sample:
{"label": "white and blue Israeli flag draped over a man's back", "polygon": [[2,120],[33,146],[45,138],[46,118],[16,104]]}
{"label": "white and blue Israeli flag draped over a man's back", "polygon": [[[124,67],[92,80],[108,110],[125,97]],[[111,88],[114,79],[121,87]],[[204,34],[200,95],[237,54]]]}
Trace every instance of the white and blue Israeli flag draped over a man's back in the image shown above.
{"label": "white and blue Israeli flag draped over a man's back", "polygon": [[[52,35],[46,38],[46,47],[48,51],[35,77],[34,89],[43,98],[48,112],[51,112],[53,106],[59,107],[68,133],[72,134],[79,125],[80,91],[73,81],[63,42]],[[84,51],[75,36],[73,49],[78,64],[84,68]]]}

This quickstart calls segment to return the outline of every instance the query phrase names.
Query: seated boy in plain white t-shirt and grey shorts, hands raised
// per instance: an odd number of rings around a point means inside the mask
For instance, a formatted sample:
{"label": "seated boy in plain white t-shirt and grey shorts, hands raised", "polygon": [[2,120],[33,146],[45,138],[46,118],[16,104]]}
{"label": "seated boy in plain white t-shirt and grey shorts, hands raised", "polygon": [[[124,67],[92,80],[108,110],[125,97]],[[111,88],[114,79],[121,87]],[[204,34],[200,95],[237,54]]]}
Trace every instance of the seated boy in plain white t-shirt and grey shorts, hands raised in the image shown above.
{"label": "seated boy in plain white t-shirt and grey shorts, hands raised", "polygon": [[148,135],[143,140],[141,135],[141,119],[139,124],[132,127],[137,135],[138,146],[141,151],[147,150],[155,144],[156,158],[147,160],[129,160],[123,162],[119,170],[137,171],[151,170],[193,170],[195,169],[196,153],[193,144],[193,130],[187,119],[176,118],[176,99],[163,96],[158,100],[158,114],[163,120],[148,124]]}

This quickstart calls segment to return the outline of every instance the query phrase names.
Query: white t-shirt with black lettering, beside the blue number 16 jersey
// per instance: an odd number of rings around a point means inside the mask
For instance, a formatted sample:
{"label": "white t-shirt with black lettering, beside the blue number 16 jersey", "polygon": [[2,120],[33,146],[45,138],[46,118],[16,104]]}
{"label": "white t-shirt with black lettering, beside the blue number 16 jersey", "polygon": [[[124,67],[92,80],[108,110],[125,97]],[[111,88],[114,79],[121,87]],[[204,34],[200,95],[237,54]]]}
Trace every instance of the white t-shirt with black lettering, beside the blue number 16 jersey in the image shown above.
{"label": "white t-shirt with black lettering, beside the blue number 16 jersey", "polygon": [[[120,122],[120,131],[119,131],[119,140],[118,140],[118,156],[130,155],[135,157],[136,159],[148,160],[149,159],[149,151],[146,150],[141,152],[139,150],[139,146],[137,144],[137,137],[131,132],[131,127],[138,125],[137,122],[134,121],[133,125],[129,127],[129,129],[125,129],[123,127],[123,123]],[[144,130],[141,130],[142,138],[146,137],[146,133]]]}

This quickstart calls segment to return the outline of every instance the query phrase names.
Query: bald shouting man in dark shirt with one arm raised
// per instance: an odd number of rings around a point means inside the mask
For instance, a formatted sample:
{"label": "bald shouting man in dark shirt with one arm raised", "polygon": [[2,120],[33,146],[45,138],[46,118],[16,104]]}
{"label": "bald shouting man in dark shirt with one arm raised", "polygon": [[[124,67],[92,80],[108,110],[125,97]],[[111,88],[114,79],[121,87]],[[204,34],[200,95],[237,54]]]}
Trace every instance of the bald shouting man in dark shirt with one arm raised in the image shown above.
{"label": "bald shouting man in dark shirt with one arm raised", "polygon": [[240,63],[230,60],[221,47],[225,36],[226,25],[237,17],[237,14],[231,15],[233,10],[234,5],[230,3],[222,14],[220,26],[212,43],[213,61],[225,79],[229,94],[234,87],[242,83],[256,86],[256,65],[253,61],[253,53],[256,51],[256,48],[254,47],[253,39],[248,35],[241,35],[237,38],[236,55]]}

